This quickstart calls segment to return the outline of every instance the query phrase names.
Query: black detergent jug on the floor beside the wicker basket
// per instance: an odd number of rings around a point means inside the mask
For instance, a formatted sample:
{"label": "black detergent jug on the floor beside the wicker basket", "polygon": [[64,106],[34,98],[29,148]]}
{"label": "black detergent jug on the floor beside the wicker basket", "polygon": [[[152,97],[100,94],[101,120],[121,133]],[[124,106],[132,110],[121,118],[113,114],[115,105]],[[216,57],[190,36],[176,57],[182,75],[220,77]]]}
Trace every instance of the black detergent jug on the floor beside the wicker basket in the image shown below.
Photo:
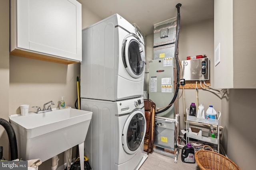
{"label": "black detergent jug on the floor beside the wicker basket", "polygon": [[191,144],[188,143],[186,146],[183,147],[181,152],[182,162],[195,163],[194,153],[195,153],[194,148],[192,148]]}

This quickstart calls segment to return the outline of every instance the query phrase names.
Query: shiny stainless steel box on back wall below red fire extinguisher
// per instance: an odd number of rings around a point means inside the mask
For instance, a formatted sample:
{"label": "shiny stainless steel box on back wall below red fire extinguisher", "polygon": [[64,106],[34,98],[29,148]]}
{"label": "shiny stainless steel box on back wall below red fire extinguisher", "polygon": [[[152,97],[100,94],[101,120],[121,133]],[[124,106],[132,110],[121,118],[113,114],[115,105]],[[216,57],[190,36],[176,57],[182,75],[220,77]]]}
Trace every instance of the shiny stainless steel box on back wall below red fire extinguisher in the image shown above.
{"label": "shiny stainless steel box on back wall below red fire extinguisher", "polygon": [[183,78],[185,80],[209,80],[210,59],[191,59],[182,61]]}

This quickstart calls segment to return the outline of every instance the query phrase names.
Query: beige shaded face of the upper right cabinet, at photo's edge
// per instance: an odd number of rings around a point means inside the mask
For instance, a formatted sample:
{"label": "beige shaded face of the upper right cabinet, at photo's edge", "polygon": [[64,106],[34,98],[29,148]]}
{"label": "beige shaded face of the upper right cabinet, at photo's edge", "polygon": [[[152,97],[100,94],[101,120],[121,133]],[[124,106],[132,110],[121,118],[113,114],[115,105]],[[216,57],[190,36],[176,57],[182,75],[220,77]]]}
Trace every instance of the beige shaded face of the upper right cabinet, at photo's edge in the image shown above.
{"label": "beige shaded face of the upper right cabinet, at photo's edge", "polygon": [[233,0],[234,88],[256,88],[255,7],[256,0]]}

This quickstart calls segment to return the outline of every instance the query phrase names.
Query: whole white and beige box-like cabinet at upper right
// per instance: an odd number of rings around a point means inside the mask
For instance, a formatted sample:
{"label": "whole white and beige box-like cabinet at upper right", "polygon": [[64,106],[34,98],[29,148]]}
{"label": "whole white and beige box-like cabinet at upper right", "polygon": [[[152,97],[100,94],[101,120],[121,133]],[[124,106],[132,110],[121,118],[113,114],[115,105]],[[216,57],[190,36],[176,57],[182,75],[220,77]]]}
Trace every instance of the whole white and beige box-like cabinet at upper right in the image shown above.
{"label": "whole white and beige box-like cabinet at upper right", "polygon": [[256,88],[255,6],[255,0],[214,0],[215,88]]}

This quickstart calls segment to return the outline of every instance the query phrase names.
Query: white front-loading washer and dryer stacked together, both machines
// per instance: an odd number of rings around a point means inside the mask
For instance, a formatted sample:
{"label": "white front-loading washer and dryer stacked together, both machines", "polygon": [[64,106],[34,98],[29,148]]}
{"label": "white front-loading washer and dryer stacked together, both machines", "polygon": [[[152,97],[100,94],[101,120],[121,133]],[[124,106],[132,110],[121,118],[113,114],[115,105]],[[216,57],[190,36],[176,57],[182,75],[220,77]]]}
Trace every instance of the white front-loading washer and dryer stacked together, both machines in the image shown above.
{"label": "white front-loading washer and dryer stacked together, both machines", "polygon": [[85,154],[93,170],[134,170],[143,153],[142,35],[114,14],[82,31],[81,109],[92,111]]}

